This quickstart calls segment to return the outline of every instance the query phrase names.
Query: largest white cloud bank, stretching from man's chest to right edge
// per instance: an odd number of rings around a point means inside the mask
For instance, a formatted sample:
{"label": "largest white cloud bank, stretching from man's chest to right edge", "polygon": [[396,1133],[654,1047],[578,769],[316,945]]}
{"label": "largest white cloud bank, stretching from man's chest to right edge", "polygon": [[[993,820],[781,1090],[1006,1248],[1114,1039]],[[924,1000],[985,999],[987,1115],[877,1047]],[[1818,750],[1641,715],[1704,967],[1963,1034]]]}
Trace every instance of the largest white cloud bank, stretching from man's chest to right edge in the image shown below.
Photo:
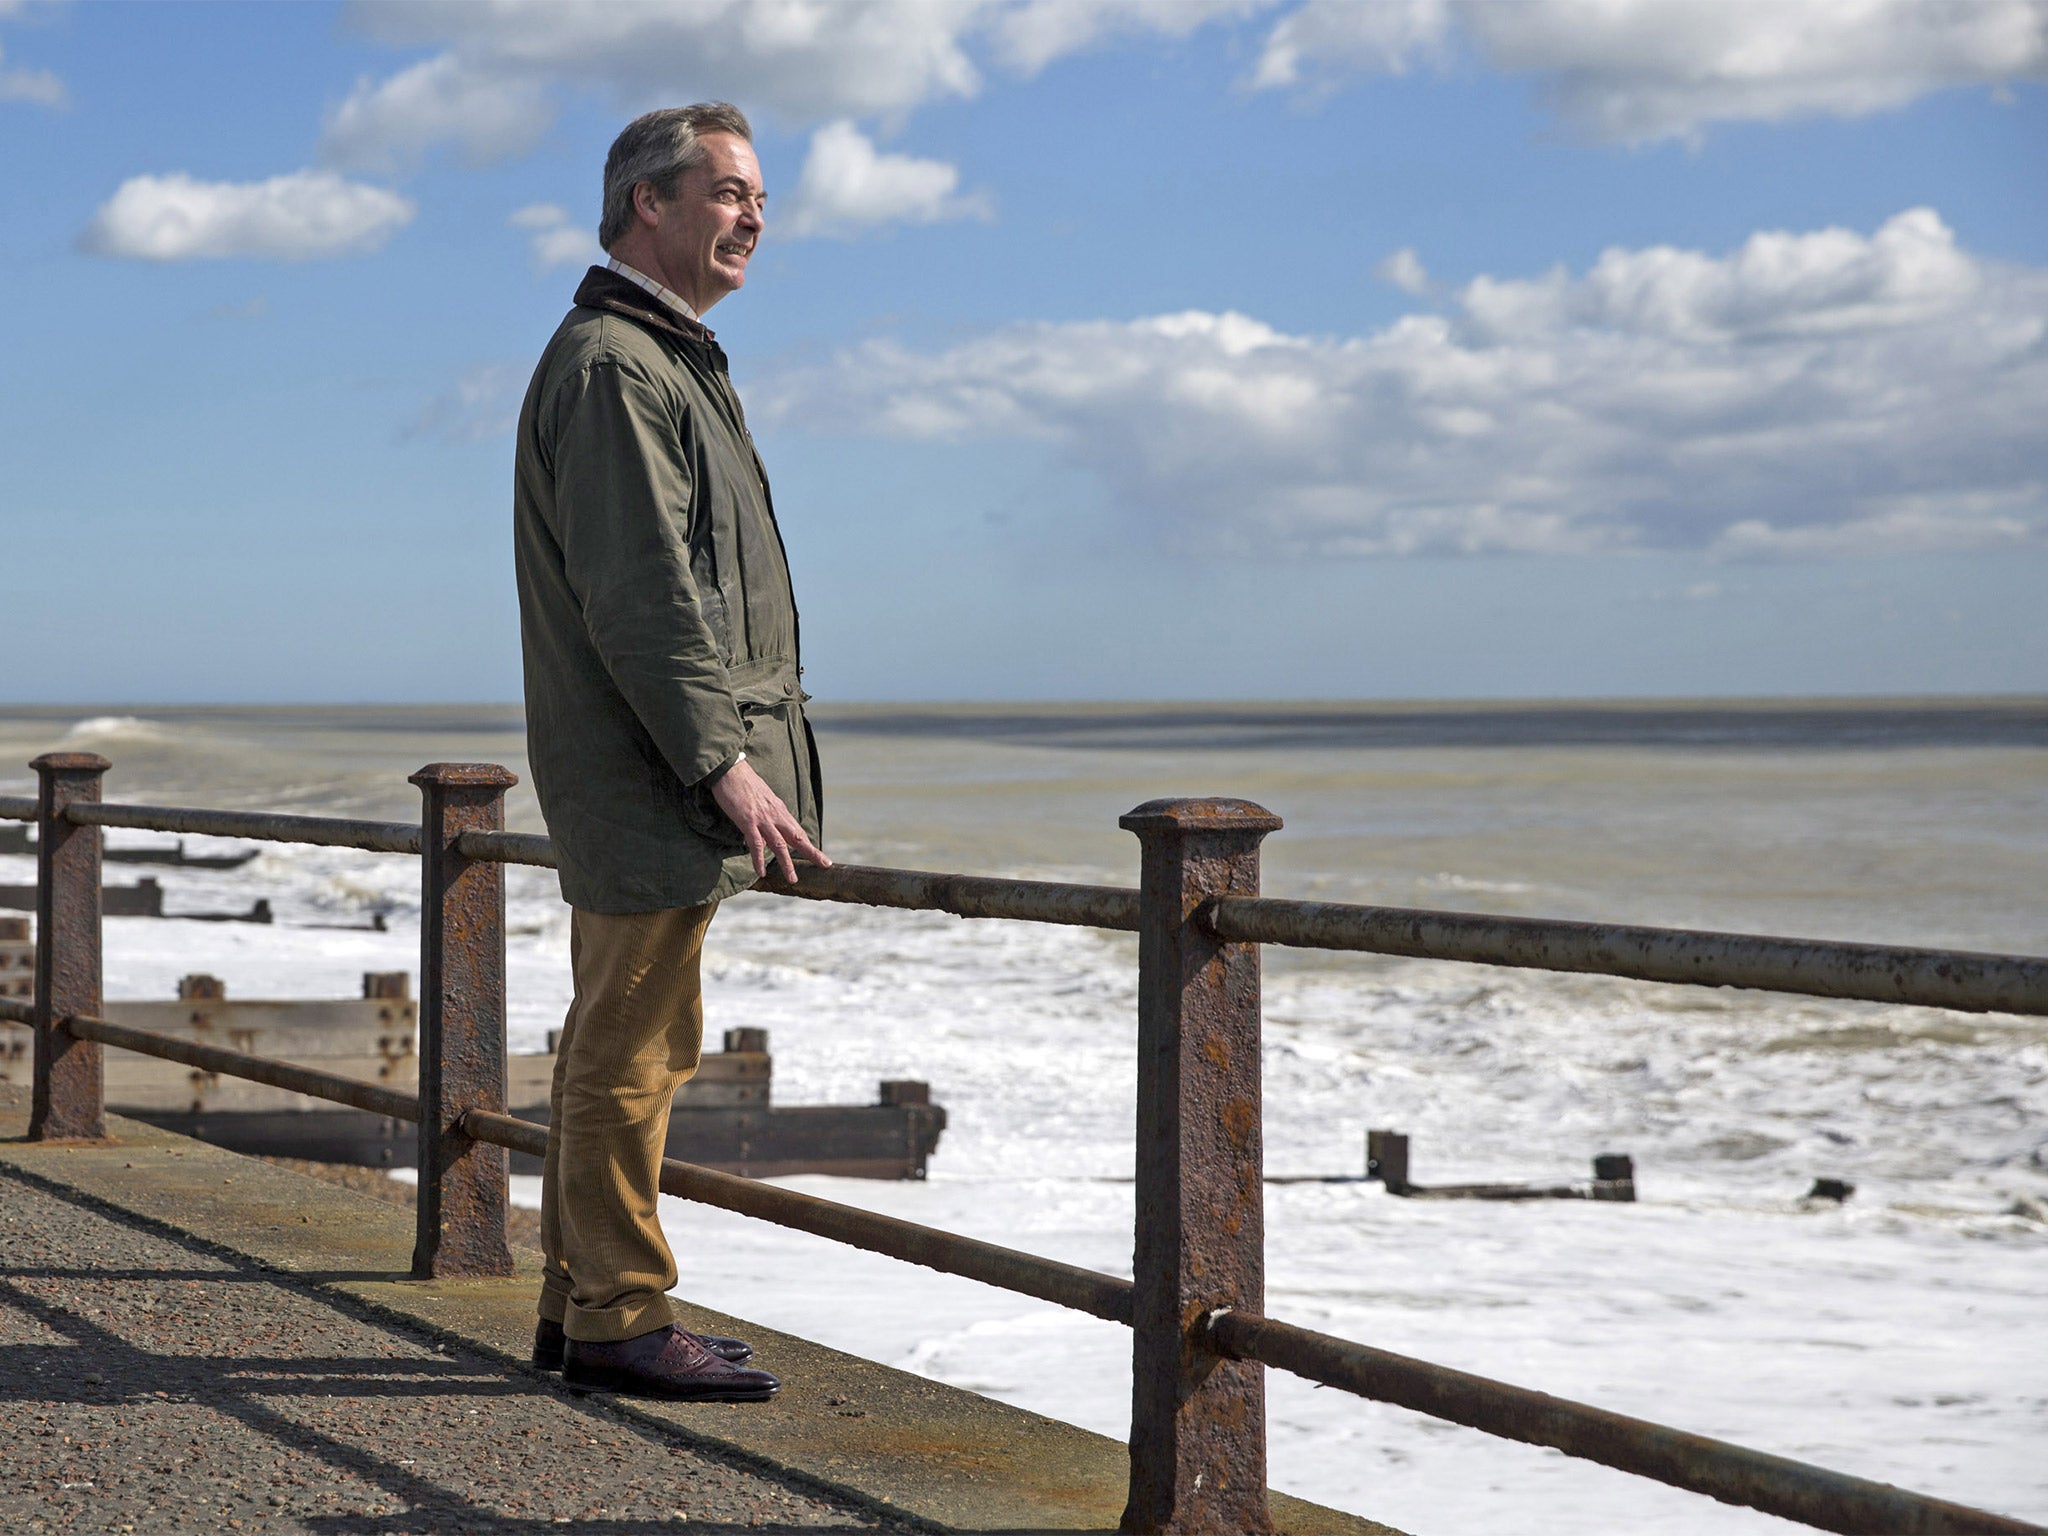
{"label": "largest white cloud bank, stretching from man's chest to right edge", "polygon": [[1010,326],[936,354],[872,342],[756,395],[805,430],[1047,440],[1204,553],[2048,535],[2048,272],[1972,258],[1927,209],[1483,276],[1368,336],[1198,311]]}

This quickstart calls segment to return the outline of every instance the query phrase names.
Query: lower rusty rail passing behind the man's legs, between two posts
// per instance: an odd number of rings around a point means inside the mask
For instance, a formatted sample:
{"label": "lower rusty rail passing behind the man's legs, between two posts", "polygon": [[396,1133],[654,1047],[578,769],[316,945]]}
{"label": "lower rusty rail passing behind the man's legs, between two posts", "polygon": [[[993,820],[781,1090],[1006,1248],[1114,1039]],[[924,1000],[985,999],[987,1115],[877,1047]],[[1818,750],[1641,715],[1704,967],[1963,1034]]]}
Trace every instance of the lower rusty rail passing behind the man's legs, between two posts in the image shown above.
{"label": "lower rusty rail passing behind the man's legs, between two posts", "polygon": [[[475,1141],[489,1141],[535,1157],[547,1155],[547,1126],[537,1126],[512,1114],[471,1110],[463,1116],[463,1128]],[[883,1217],[860,1206],[819,1200],[811,1194],[760,1184],[735,1174],[719,1174],[713,1167],[698,1167],[674,1157],[662,1159],[662,1194],[719,1206],[741,1217],[772,1221],[778,1227],[793,1227],[813,1237],[829,1237],[846,1247],[885,1253],[905,1264],[922,1264],[928,1270],[981,1280],[987,1286],[1014,1290],[1020,1296],[1036,1296],[1057,1307],[1071,1307],[1077,1313],[1087,1313],[1108,1323],[1124,1323],[1126,1327],[1130,1323],[1128,1280],[1038,1257],[1036,1253],[1020,1253],[1014,1247],[983,1243],[979,1237],[963,1237],[938,1227],[920,1227],[899,1217]]]}

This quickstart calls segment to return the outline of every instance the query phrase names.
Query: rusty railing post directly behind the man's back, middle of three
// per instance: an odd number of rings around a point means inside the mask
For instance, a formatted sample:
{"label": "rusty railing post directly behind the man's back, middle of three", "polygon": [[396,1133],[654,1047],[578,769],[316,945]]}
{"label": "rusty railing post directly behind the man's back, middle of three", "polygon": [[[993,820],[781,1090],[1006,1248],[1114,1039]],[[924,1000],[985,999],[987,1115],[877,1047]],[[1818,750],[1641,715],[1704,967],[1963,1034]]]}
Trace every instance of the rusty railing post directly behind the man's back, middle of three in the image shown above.
{"label": "rusty railing post directly behind the man's back, middle of three", "polygon": [[465,831],[504,831],[518,778],[489,762],[430,762],[412,776],[420,823],[420,1206],[412,1272],[512,1274],[504,1147],[461,1130],[506,1108],[506,874],[463,858]]}

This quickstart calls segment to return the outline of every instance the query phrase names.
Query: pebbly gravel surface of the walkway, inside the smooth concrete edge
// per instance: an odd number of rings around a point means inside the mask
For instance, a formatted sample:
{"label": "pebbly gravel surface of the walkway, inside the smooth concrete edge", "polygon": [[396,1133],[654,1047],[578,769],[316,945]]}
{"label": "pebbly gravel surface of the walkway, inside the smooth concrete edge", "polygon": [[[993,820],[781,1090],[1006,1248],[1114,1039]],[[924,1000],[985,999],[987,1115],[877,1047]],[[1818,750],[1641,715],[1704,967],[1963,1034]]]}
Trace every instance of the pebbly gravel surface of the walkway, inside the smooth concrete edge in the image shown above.
{"label": "pebbly gravel surface of the walkway, inside the smooth concrete edge", "polygon": [[0,1530],[899,1530],[0,1171]]}

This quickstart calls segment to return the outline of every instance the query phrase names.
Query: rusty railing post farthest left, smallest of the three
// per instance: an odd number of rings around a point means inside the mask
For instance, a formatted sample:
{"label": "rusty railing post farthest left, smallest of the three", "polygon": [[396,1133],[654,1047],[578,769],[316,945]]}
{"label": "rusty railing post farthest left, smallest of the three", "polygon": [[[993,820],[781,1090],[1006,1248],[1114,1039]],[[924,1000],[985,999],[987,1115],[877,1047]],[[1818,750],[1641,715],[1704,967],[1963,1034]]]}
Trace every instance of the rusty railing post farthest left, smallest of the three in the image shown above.
{"label": "rusty railing post farthest left, smallest of the three", "polygon": [[100,829],[76,827],[63,807],[100,799],[113,768],[96,752],[45,752],[29,764],[35,807],[35,1087],[29,1141],[100,1141],[106,1098],[96,1040],[61,1028],[100,1012]]}

